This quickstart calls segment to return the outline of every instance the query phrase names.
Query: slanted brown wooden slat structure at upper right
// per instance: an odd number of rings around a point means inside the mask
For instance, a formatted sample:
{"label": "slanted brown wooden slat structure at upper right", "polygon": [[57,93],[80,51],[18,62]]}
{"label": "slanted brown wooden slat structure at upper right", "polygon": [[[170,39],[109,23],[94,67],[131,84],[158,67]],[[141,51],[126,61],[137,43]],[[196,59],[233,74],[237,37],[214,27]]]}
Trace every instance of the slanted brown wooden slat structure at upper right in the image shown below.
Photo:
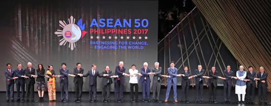
{"label": "slanted brown wooden slat structure at upper right", "polygon": [[[270,0],[193,0],[239,64],[271,73]],[[268,76],[271,92],[271,75]]]}

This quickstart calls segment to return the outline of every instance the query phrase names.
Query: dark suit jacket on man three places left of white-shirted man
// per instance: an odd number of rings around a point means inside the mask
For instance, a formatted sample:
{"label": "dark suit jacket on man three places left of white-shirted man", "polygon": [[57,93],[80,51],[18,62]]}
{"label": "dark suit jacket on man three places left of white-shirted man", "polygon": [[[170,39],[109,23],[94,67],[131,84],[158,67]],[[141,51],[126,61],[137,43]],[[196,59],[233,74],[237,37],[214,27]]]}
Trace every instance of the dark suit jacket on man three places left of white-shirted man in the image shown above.
{"label": "dark suit jacket on man three places left of white-shirted man", "polygon": [[92,69],[90,69],[86,75],[83,75],[83,77],[88,77],[89,75],[90,75],[89,85],[97,85],[97,76],[100,78],[103,77],[103,75],[100,75],[98,70],[95,70],[93,76]]}

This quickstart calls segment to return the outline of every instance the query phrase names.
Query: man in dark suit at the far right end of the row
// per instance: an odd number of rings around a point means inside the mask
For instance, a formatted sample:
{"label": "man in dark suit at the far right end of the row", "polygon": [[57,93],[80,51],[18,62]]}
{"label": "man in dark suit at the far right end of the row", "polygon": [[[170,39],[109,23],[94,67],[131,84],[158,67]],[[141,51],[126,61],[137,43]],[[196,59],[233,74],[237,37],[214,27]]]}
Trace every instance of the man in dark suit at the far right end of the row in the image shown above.
{"label": "man in dark suit at the far right end of the row", "polygon": [[258,80],[258,93],[259,93],[259,104],[262,104],[262,95],[264,96],[265,104],[269,104],[267,102],[267,72],[264,71],[265,68],[263,66],[260,67],[260,72],[257,74],[257,78],[255,80]]}

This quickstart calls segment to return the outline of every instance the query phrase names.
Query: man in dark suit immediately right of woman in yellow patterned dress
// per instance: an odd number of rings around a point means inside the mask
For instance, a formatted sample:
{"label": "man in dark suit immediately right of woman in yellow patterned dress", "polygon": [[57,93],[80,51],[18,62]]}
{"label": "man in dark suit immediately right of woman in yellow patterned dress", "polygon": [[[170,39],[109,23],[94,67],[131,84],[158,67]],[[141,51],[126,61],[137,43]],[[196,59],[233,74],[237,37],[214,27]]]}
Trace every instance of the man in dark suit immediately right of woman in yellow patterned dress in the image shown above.
{"label": "man in dark suit immediately right of woman in yellow patterned dress", "polygon": [[62,63],[62,68],[59,69],[60,72],[60,79],[59,79],[59,83],[60,83],[60,90],[61,90],[61,102],[64,101],[64,90],[66,93],[66,99],[67,102],[68,100],[68,76],[72,76],[75,77],[75,75],[70,75],[68,74],[68,68],[66,68],[66,63]]}

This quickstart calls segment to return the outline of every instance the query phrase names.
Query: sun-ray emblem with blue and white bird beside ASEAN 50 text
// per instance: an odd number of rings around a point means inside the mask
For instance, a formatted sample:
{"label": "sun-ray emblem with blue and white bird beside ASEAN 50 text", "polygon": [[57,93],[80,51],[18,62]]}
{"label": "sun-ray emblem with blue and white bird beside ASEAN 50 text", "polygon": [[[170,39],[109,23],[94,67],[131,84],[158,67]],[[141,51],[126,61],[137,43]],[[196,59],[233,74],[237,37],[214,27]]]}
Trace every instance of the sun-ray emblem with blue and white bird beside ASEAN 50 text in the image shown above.
{"label": "sun-ray emblem with blue and white bird beside ASEAN 50 text", "polygon": [[63,27],[63,30],[57,30],[55,32],[58,37],[63,36],[63,39],[59,41],[59,45],[65,45],[69,42],[68,47],[71,50],[75,48],[75,42],[88,33],[85,31],[85,23],[82,24],[82,19],[80,19],[77,24],[74,24],[74,22],[75,19],[73,19],[72,16],[68,19],[69,24],[66,24],[65,21],[59,21],[59,26]]}

